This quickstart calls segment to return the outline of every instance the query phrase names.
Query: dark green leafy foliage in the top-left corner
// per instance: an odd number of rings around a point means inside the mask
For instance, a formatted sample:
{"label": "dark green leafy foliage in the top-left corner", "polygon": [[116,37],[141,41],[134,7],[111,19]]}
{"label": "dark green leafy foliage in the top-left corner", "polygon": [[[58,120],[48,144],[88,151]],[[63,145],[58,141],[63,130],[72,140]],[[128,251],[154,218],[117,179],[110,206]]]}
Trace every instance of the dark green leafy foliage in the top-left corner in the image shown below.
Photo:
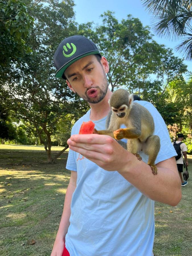
{"label": "dark green leafy foliage in the top-left corner", "polygon": [[33,18],[20,0],[0,0],[0,64],[7,67],[11,60],[19,60],[30,48],[25,39],[33,27]]}

